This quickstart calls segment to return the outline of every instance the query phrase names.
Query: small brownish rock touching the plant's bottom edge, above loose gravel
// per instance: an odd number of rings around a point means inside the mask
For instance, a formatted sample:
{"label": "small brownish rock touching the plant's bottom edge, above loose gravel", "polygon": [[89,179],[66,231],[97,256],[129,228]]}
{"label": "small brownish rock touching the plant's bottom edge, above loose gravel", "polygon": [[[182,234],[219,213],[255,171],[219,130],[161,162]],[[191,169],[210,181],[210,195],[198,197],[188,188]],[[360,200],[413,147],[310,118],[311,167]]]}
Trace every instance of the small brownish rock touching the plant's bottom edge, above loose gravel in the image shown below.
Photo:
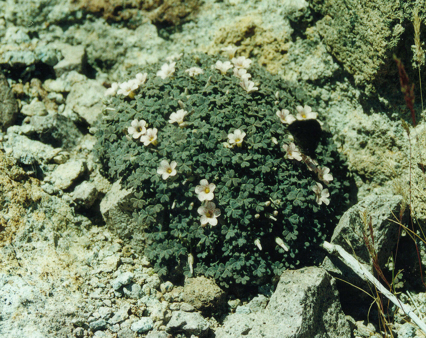
{"label": "small brownish rock touching the plant's bottom edge, above loose gravel", "polygon": [[186,278],[182,299],[205,313],[219,312],[225,306],[225,292],[204,276]]}

